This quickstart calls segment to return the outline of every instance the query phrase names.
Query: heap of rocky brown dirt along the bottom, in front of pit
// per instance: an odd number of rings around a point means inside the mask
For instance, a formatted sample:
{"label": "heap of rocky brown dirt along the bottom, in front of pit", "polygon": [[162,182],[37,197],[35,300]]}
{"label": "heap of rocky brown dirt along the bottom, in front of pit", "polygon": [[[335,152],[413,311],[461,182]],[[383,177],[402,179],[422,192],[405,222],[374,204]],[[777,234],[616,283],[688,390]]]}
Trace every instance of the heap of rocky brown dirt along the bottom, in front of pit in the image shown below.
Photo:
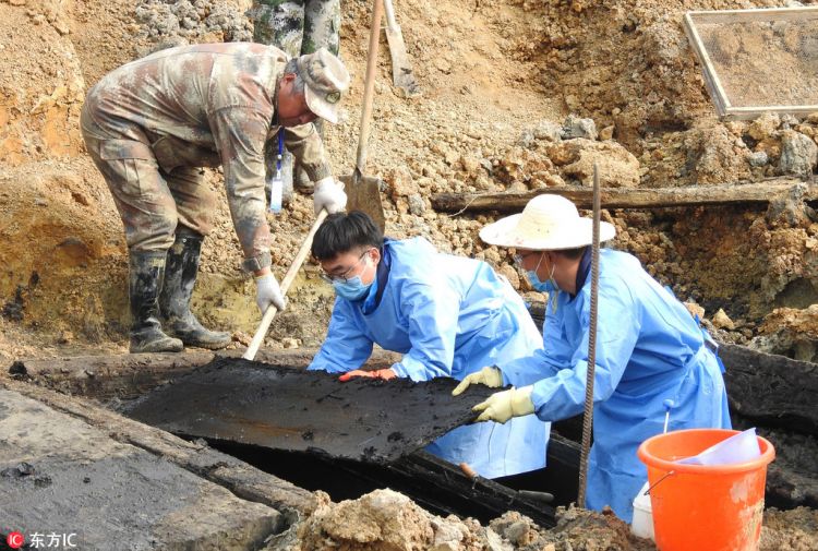
{"label": "heap of rocky brown dirt along the bottom, in front of pit", "polygon": [[[557,526],[545,530],[530,518],[508,512],[489,526],[473,519],[441,518],[418,507],[405,495],[376,490],[358,500],[333,503],[322,492],[309,518],[276,537],[268,549],[412,551],[654,551],[655,546],[630,535],[615,515],[560,507]],[[815,549],[818,512],[799,507],[765,512],[759,549],[806,551]]]}

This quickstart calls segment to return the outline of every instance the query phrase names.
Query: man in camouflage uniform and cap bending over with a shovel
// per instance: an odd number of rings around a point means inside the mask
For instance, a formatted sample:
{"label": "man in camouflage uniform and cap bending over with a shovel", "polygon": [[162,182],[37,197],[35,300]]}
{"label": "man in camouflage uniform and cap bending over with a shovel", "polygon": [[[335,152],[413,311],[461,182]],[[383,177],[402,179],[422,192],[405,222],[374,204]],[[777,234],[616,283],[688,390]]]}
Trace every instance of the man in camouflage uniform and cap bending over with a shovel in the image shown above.
{"label": "man in camouflage uniform and cap bending over with a shovel", "polygon": [[316,117],[336,122],[348,86],[346,68],[326,50],[288,60],[273,47],[232,43],[161,50],[91,88],[81,127],[125,229],[132,352],[230,343],[229,334],[204,328],[190,311],[202,240],[216,206],[200,167],[222,167],[258,308],[285,308],[270,271],[265,143],[287,128],[288,147],[317,181],[316,214],[344,209],[347,197],[321,137],[304,124]]}

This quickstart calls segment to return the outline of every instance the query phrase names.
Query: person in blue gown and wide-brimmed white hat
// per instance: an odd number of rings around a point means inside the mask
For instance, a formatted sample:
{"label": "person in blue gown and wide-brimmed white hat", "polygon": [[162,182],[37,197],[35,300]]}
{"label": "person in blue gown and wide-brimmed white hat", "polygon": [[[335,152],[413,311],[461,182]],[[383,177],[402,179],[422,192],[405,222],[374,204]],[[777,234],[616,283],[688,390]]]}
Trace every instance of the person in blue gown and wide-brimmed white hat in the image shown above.
{"label": "person in blue gown and wide-brimmed white hat", "polygon": [[[602,223],[601,241],[614,237]],[[467,376],[455,390],[501,380],[476,406],[479,420],[505,422],[536,412],[556,421],[582,412],[591,297],[591,220],[567,199],[540,195],[522,214],[484,227],[488,243],[515,248],[532,286],[549,294],[543,349]],[[636,450],[660,434],[673,400],[670,429],[730,428],[720,363],[706,334],[673,295],[630,254],[600,251],[593,446],[586,506],[610,505],[630,522],[631,501],[647,480]],[[498,371],[497,371],[498,370]],[[502,376],[497,376],[502,375]]]}

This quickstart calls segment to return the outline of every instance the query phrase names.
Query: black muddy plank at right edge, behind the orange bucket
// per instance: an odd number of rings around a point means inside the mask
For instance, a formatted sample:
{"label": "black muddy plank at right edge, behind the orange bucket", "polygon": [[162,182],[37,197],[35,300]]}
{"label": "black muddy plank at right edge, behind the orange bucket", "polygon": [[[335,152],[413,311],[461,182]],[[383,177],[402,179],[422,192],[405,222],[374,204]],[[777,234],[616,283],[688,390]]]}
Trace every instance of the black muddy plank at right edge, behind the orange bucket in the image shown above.
{"label": "black muddy plank at right edge, behind the orange bucket", "polygon": [[767,427],[818,435],[818,364],[726,344],[719,356],[734,412]]}

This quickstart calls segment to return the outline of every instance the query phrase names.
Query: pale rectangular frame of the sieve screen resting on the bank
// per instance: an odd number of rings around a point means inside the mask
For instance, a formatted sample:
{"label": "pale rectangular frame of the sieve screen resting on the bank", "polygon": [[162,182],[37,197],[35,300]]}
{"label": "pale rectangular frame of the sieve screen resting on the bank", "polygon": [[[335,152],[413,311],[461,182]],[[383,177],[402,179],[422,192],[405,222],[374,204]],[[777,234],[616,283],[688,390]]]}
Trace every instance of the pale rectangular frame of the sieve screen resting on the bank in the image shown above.
{"label": "pale rectangular frame of the sieve screen resting on the bank", "polygon": [[818,20],[818,7],[798,8],[768,8],[757,10],[719,10],[719,11],[691,11],[685,13],[685,34],[690,41],[693,50],[701,62],[705,73],[705,83],[710,97],[715,105],[719,117],[726,120],[748,120],[765,112],[777,112],[780,115],[806,116],[818,112],[818,105],[765,105],[753,107],[734,107],[730,103],[724,88],[719,80],[719,74],[713,67],[710,56],[699,36],[696,24],[710,23],[746,23],[755,21],[793,21],[793,20]]}

